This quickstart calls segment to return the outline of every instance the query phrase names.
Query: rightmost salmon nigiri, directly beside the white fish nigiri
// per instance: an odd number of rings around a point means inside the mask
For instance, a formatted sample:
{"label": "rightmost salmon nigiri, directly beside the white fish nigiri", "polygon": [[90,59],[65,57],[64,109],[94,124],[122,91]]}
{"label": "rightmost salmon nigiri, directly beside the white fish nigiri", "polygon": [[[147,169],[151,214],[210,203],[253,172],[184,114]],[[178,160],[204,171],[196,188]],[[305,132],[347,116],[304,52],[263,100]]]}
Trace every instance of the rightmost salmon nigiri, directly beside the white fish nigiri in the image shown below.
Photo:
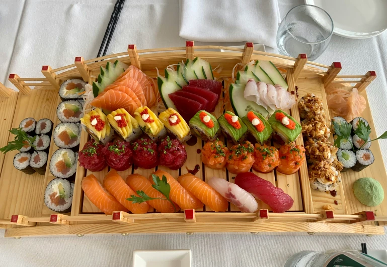
{"label": "rightmost salmon nigiri, directly beside the white fish nigiri", "polygon": [[194,194],[195,197],[213,211],[227,210],[228,201],[201,179],[187,173],[179,176],[177,180],[185,189]]}

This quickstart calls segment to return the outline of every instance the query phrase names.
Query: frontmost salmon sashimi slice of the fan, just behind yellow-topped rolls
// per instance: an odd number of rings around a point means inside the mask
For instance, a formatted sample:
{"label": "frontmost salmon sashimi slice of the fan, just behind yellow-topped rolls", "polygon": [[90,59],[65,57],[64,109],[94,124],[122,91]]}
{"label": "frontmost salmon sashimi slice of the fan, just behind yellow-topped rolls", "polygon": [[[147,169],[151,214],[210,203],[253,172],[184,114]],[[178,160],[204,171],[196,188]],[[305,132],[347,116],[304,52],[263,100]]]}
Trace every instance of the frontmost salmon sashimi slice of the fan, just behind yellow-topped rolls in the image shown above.
{"label": "frontmost salmon sashimi slice of the fan, just behind yellow-topped rolls", "polygon": [[[133,93],[134,96],[136,96]],[[107,110],[116,110],[124,108],[129,114],[133,115],[138,105],[132,97],[119,90],[109,90],[102,92],[91,102],[91,105]]]}

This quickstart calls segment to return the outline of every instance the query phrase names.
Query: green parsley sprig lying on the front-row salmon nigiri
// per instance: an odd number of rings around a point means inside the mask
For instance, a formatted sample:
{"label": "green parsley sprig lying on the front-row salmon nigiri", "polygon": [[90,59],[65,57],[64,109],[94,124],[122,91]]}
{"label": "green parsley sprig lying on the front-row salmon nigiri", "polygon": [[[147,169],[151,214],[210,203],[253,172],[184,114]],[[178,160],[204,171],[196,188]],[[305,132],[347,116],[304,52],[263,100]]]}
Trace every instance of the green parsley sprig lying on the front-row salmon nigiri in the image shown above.
{"label": "green parsley sprig lying on the front-row salmon nigiri", "polygon": [[159,176],[152,174],[152,179],[154,182],[154,185],[152,185],[152,187],[154,189],[156,189],[157,191],[159,191],[160,193],[162,193],[165,196],[165,198],[149,197],[147,194],[145,194],[144,191],[137,190],[136,193],[138,196],[131,195],[130,198],[127,198],[126,200],[131,201],[132,203],[142,203],[142,202],[145,202],[148,200],[153,200],[153,199],[168,200],[169,202],[171,202],[171,204],[176,212],[176,207],[169,197],[169,194],[171,192],[171,186],[167,182],[167,177],[165,175],[163,175],[162,180],[160,180]]}

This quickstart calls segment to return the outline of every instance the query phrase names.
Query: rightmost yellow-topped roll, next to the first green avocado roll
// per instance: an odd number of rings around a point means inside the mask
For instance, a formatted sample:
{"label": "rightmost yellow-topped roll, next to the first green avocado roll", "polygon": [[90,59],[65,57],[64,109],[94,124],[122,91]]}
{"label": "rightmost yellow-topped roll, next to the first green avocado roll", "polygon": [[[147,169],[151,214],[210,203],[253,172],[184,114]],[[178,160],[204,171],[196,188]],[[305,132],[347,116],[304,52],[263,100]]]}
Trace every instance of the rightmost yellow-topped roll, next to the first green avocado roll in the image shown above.
{"label": "rightmost yellow-topped roll, next to the first green avocado roll", "polygon": [[163,122],[167,130],[176,136],[180,142],[188,141],[191,138],[190,127],[187,122],[172,107],[161,112],[159,119]]}

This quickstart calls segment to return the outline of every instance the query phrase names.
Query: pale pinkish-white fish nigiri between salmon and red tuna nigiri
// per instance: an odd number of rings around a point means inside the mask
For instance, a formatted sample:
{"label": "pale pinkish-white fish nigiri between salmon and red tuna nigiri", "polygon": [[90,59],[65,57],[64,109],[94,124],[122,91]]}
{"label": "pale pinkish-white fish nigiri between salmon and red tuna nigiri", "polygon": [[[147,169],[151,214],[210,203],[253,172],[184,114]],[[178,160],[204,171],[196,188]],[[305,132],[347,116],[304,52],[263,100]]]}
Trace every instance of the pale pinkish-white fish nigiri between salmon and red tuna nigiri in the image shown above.
{"label": "pale pinkish-white fish nigiri between salmon and red tuna nigiri", "polygon": [[258,210],[258,203],[253,195],[238,185],[217,177],[212,177],[208,184],[242,212],[255,212]]}

